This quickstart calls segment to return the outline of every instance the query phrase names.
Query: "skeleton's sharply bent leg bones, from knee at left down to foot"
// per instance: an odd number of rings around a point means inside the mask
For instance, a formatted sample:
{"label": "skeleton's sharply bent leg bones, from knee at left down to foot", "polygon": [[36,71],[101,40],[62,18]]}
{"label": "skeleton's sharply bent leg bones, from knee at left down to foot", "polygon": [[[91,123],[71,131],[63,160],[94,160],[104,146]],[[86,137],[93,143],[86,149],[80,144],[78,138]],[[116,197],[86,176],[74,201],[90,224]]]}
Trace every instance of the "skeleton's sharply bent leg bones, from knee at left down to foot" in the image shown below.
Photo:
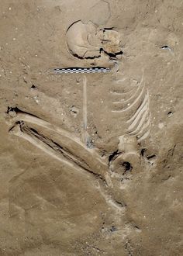
{"label": "skeleton's sharply bent leg bones, from knee at left down to foot", "polygon": [[[102,161],[94,149],[89,150],[85,147],[85,144],[82,144],[71,133],[27,112],[22,112],[19,109],[9,109],[7,114],[7,123],[11,125],[9,133],[29,141],[29,143],[40,148],[51,157],[74,168],[75,171],[87,171],[91,175],[95,175],[95,178],[97,178],[96,189],[105,199],[105,202],[116,210],[116,213],[124,213],[125,205],[112,198],[112,181],[109,177],[109,166]],[[49,133],[50,131],[54,132],[54,135],[56,134],[57,138],[61,140],[61,145],[49,137],[45,137],[26,123],[31,123],[32,126],[40,126],[42,130],[48,130]]]}

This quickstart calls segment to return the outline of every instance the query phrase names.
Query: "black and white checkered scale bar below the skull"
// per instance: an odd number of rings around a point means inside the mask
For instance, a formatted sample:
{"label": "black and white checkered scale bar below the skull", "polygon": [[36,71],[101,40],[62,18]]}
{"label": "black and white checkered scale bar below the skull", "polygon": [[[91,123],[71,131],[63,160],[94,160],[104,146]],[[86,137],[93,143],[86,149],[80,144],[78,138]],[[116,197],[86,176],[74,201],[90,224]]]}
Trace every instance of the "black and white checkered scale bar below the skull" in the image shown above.
{"label": "black and white checkered scale bar below the skull", "polygon": [[108,73],[109,67],[66,67],[55,68],[55,73]]}

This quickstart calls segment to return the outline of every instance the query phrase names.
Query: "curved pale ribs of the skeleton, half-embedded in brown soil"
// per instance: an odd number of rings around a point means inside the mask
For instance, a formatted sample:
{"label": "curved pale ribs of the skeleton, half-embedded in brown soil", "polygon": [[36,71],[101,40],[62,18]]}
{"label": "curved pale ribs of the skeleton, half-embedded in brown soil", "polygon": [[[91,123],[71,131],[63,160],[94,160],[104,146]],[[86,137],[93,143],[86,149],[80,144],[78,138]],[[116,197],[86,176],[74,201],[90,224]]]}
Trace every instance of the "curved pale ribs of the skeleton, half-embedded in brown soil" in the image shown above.
{"label": "curved pale ribs of the skeleton, half-embedded in brown soil", "polygon": [[126,133],[136,136],[138,142],[145,140],[150,133],[150,97],[142,74],[140,82],[126,88],[126,78],[116,81],[110,93],[113,96],[112,114],[124,115]]}

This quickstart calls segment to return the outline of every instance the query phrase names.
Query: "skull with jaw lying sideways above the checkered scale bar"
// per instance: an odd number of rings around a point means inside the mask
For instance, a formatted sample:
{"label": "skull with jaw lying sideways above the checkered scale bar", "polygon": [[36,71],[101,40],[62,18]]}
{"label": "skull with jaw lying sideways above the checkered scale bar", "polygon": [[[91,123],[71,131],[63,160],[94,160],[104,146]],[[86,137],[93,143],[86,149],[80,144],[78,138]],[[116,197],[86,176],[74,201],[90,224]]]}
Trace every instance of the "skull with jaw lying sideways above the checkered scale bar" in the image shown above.
{"label": "skull with jaw lying sideways above the checkered scale bar", "polygon": [[113,29],[99,29],[92,22],[74,22],[67,29],[67,47],[74,57],[95,58],[101,52],[115,56],[121,53],[119,33]]}

